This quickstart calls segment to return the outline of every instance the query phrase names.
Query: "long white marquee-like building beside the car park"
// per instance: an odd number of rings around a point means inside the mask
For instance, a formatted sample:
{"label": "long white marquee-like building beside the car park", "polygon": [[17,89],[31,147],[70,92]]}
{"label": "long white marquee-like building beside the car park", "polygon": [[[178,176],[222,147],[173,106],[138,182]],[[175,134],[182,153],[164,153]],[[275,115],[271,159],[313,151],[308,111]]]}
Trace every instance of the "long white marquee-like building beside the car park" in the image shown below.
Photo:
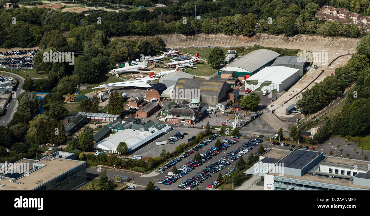
{"label": "long white marquee-like building beside the car park", "polygon": [[130,152],[135,150],[135,148],[154,140],[162,133],[166,133],[165,130],[158,130],[154,133],[149,131],[135,131],[132,129],[121,130],[94,144],[92,146],[92,150],[119,153],[117,152],[118,144],[120,144],[120,142],[125,142],[127,144],[128,151]]}

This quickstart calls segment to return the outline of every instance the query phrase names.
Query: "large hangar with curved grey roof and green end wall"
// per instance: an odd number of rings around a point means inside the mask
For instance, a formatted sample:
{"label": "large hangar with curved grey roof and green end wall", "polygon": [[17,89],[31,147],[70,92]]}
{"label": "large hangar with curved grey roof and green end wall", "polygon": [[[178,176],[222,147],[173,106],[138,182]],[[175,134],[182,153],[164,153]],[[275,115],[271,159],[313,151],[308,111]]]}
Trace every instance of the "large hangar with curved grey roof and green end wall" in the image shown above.
{"label": "large hangar with curved grey roof and green end wall", "polygon": [[249,76],[257,73],[263,67],[271,66],[272,62],[278,56],[280,56],[280,54],[277,52],[268,49],[257,49],[241,58],[235,59],[235,61],[220,69],[218,75],[221,75],[224,71],[232,71],[235,72],[235,77],[243,75],[249,78]]}

